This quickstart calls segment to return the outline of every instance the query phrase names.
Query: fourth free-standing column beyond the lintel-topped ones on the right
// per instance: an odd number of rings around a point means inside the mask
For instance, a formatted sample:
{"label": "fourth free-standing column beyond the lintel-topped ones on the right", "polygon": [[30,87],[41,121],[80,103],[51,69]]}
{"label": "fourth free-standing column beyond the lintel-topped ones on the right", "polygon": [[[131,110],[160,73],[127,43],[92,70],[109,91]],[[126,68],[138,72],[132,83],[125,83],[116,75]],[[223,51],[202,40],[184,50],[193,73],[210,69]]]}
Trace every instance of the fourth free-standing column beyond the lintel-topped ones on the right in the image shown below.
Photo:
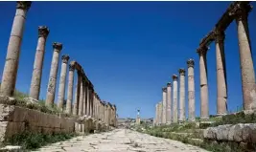
{"label": "fourth free-standing column beyond the lintel-topped ones on the right", "polygon": [[171,107],[172,107],[172,84],[171,82],[167,83],[167,114],[166,114],[166,119],[167,119],[167,124],[172,123],[172,112],[171,112]]}

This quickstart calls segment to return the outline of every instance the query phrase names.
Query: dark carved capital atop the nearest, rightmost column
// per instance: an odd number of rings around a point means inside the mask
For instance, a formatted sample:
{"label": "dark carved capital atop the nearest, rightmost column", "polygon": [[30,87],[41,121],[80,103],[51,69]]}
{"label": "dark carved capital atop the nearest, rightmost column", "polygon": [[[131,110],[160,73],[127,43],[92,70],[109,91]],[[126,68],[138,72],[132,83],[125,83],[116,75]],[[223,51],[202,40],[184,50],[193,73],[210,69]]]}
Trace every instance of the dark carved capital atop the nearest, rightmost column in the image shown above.
{"label": "dark carved capital atop the nearest, rightmost column", "polygon": [[247,20],[248,12],[252,10],[252,6],[248,3],[235,2],[233,9],[229,11],[229,15],[237,20]]}

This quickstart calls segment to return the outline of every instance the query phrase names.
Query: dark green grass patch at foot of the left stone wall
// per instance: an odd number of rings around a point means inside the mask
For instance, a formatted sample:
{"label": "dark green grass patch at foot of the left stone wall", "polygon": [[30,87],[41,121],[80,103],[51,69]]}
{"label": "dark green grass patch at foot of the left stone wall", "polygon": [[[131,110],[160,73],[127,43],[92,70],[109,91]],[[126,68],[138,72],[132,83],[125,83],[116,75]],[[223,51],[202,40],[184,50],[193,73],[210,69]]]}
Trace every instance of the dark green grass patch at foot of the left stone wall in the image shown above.
{"label": "dark green grass patch at foot of the left stone wall", "polygon": [[77,134],[75,133],[41,134],[23,132],[21,134],[12,136],[12,138],[5,141],[5,144],[19,145],[22,146],[22,149],[24,150],[33,150],[48,143],[65,141],[76,136]]}

